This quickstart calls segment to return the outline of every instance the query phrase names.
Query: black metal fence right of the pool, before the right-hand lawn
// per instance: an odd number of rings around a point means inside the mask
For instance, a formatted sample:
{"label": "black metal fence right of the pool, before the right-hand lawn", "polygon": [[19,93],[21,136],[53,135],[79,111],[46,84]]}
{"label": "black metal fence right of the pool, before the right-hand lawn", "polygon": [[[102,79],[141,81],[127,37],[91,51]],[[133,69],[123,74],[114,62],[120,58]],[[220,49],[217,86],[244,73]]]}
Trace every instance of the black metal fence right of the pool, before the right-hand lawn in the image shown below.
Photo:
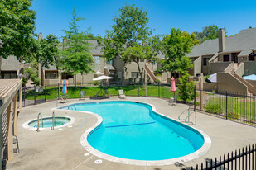
{"label": "black metal fence right of the pool, before the right-hand lawn", "polygon": [[256,96],[240,92],[196,92],[196,110],[256,125]]}

